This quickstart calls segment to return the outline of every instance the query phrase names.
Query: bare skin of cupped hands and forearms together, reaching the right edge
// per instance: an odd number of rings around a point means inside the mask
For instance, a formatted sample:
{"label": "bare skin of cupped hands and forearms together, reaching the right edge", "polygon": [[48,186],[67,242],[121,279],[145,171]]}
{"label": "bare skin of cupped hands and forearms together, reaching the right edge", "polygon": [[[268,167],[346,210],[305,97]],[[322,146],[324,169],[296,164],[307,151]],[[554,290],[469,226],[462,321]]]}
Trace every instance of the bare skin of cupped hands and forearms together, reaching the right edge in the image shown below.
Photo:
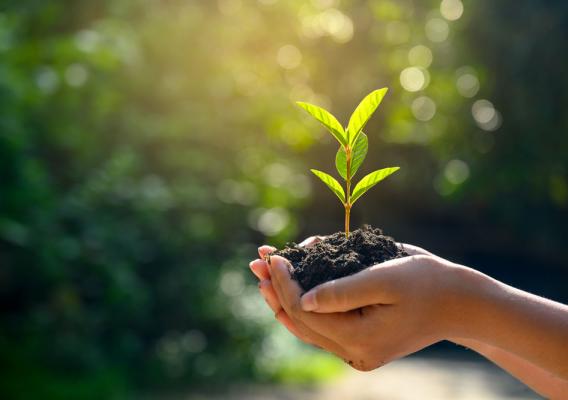
{"label": "bare skin of cupped hands and forearms together, reaching the right edge", "polygon": [[[304,246],[321,237],[308,238]],[[568,306],[426,250],[302,293],[288,261],[259,248],[262,296],[292,334],[369,371],[441,340],[480,353],[539,394],[568,393]]]}

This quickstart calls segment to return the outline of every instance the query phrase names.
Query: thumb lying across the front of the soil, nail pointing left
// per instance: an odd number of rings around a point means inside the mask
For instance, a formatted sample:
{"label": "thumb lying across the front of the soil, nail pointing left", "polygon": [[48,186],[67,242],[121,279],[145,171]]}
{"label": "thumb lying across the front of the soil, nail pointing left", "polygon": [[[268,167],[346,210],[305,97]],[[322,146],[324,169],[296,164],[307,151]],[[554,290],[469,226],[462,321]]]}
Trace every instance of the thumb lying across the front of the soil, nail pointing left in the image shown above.
{"label": "thumb lying across the front of the soil, nail pointing left", "polygon": [[375,304],[393,304],[400,281],[400,267],[415,256],[398,258],[364,269],[345,278],[316,286],[301,299],[304,311],[335,313]]}

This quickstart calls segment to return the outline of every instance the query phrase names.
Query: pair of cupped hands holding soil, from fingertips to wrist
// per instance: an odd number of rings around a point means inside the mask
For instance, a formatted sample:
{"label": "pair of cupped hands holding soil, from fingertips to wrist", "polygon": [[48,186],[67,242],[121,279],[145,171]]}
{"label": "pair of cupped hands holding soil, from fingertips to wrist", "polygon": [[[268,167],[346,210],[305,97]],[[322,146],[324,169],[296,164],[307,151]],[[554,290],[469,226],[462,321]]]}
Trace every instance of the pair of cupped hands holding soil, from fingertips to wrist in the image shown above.
{"label": "pair of cupped hands holding soil, from fingertips to wrist", "polygon": [[[314,236],[301,246],[312,246]],[[276,319],[300,340],[369,371],[457,332],[461,266],[416,246],[409,254],[303,293],[288,260],[261,246],[250,263]]]}

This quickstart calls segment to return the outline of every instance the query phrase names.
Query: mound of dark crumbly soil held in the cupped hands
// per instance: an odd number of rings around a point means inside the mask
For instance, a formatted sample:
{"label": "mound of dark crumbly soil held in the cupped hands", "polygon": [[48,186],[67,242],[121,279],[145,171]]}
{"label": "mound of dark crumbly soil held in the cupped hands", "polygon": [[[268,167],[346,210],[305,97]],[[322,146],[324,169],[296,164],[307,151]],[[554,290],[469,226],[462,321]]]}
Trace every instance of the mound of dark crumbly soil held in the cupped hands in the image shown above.
{"label": "mound of dark crumbly soil held in the cupped hands", "polygon": [[305,291],[372,265],[408,255],[396,245],[393,238],[369,225],[351,232],[349,238],[345,237],[345,232],[336,232],[310,247],[289,243],[274,254],[290,261],[292,278]]}

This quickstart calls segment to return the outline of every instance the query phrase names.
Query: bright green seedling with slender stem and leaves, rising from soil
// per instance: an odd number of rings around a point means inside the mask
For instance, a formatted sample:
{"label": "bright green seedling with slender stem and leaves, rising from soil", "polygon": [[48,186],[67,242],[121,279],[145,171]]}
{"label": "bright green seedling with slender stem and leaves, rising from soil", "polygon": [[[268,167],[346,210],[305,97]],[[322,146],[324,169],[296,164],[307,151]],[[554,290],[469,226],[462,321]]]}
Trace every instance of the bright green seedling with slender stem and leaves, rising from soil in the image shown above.
{"label": "bright green seedling with slender stem and leaves, rising from soil", "polygon": [[337,121],[337,118],[323,108],[301,101],[296,102],[296,104],[325,126],[339,142],[339,150],[337,150],[337,154],[335,155],[335,167],[339,175],[345,180],[345,190],[343,190],[343,187],[331,175],[316,169],[312,169],[311,171],[335,193],[341,201],[341,204],[343,204],[345,208],[346,237],[349,237],[349,218],[353,204],[370,188],[399,169],[399,167],[389,167],[371,172],[364,176],[363,179],[355,185],[353,191],[351,191],[353,176],[355,176],[357,170],[363,163],[368,150],[368,138],[367,135],[363,133],[363,128],[379,104],[381,104],[387,90],[387,88],[382,88],[367,95],[367,97],[359,103],[353,114],[351,114],[349,124],[345,129],[341,126],[339,121]]}

